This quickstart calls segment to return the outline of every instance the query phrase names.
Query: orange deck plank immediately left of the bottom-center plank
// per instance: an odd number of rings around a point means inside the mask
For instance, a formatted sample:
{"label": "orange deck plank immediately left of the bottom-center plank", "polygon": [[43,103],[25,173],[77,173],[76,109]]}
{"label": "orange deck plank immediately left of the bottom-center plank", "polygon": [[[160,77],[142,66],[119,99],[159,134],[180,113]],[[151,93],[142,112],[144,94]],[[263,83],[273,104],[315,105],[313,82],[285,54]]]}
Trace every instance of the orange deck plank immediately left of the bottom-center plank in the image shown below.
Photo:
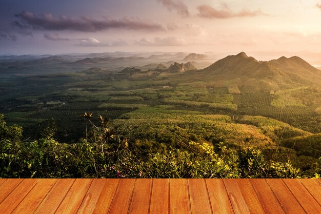
{"label": "orange deck plank immediately left of the bottom-center plank", "polygon": [[137,179],[129,214],[148,214],[152,179]]}

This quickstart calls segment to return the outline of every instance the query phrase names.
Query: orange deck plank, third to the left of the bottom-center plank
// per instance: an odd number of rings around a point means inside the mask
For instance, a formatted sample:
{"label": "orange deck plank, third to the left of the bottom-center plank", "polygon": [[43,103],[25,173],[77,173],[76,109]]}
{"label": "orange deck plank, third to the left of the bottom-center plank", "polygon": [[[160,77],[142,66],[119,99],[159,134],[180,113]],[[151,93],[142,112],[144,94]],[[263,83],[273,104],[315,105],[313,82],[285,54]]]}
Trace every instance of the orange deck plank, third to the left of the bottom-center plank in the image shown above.
{"label": "orange deck plank, third to the left of the bottom-center plank", "polygon": [[108,213],[119,184],[119,179],[104,179],[104,182],[105,184],[101,187],[101,194],[99,194],[96,206],[92,212],[94,214]]}

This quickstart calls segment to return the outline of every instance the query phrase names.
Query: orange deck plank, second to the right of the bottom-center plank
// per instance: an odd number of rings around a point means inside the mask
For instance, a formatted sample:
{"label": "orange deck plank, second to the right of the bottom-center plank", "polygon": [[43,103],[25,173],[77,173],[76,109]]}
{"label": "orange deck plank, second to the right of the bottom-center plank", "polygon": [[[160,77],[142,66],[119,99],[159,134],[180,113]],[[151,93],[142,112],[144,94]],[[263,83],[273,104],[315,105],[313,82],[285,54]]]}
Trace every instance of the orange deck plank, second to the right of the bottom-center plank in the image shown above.
{"label": "orange deck plank, second to the right of the bottom-center plank", "polygon": [[211,204],[204,179],[188,179],[192,214],[211,214]]}

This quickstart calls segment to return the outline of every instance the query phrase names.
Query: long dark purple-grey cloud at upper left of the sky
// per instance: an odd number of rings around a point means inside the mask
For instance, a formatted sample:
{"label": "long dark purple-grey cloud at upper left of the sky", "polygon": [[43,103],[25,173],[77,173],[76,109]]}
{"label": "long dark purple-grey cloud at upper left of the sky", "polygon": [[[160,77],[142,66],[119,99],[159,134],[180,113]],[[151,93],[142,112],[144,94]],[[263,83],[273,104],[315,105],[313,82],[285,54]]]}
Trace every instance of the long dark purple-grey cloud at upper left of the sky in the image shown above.
{"label": "long dark purple-grey cloud at upper left of the sky", "polygon": [[112,18],[96,18],[81,16],[80,18],[61,15],[54,17],[52,14],[35,15],[32,12],[23,11],[16,14],[16,21],[11,24],[21,28],[32,28],[40,30],[72,30],[83,32],[96,32],[109,29],[128,30],[164,30],[160,24],[141,20],[134,17],[123,17],[118,20]]}

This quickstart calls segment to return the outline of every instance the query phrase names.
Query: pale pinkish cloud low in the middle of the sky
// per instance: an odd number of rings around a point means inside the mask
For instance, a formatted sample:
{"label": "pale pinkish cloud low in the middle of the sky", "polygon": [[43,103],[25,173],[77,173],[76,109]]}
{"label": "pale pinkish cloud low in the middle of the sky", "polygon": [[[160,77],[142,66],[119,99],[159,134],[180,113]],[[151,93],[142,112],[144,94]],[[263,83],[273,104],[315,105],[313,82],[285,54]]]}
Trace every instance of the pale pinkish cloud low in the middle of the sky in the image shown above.
{"label": "pale pinkish cloud low in the middle of the sky", "polygon": [[139,46],[185,46],[186,42],[182,38],[171,36],[165,38],[155,37],[153,42],[146,38],[142,38],[141,41],[136,42],[135,44]]}

